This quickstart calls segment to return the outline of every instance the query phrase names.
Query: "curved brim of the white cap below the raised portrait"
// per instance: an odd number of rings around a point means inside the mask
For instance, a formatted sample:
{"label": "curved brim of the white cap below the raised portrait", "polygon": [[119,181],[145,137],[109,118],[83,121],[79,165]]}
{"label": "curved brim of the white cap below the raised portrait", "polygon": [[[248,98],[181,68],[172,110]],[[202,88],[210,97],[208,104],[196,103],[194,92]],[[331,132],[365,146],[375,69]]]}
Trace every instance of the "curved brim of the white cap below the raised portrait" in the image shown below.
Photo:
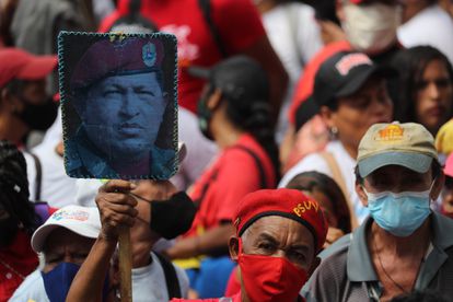
{"label": "curved brim of the white cap below the raised portrait", "polygon": [[83,228],[83,232],[81,232],[80,224],[77,224],[77,225],[76,224],[72,225],[69,223],[66,223],[65,225],[59,224],[59,223],[44,224],[44,225],[40,225],[33,233],[32,241],[31,241],[33,251],[35,251],[36,253],[43,252],[44,243],[46,242],[47,236],[50,234],[51,231],[58,228],[65,228],[84,237],[96,239],[98,236],[98,231],[94,231],[91,228]]}

